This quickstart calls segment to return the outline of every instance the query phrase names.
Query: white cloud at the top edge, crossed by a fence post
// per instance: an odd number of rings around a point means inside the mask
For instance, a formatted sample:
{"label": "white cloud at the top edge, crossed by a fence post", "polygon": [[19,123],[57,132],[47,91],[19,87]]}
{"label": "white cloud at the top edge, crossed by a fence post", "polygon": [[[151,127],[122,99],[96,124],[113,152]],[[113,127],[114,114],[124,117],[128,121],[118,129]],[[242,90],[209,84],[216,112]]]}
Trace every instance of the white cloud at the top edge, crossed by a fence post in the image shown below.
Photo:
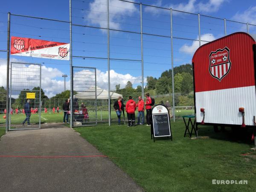
{"label": "white cloud at the top edge, crossed by a fence post", "polygon": [[[133,0],[131,0],[133,1]],[[106,0],[94,0],[89,3],[90,12],[86,12],[87,21],[100,27],[107,28],[107,6]],[[133,3],[124,3],[119,0],[109,1],[109,26],[113,29],[120,29],[120,23],[126,16],[134,15],[138,9]],[[90,19],[88,19],[90,18]]]}

